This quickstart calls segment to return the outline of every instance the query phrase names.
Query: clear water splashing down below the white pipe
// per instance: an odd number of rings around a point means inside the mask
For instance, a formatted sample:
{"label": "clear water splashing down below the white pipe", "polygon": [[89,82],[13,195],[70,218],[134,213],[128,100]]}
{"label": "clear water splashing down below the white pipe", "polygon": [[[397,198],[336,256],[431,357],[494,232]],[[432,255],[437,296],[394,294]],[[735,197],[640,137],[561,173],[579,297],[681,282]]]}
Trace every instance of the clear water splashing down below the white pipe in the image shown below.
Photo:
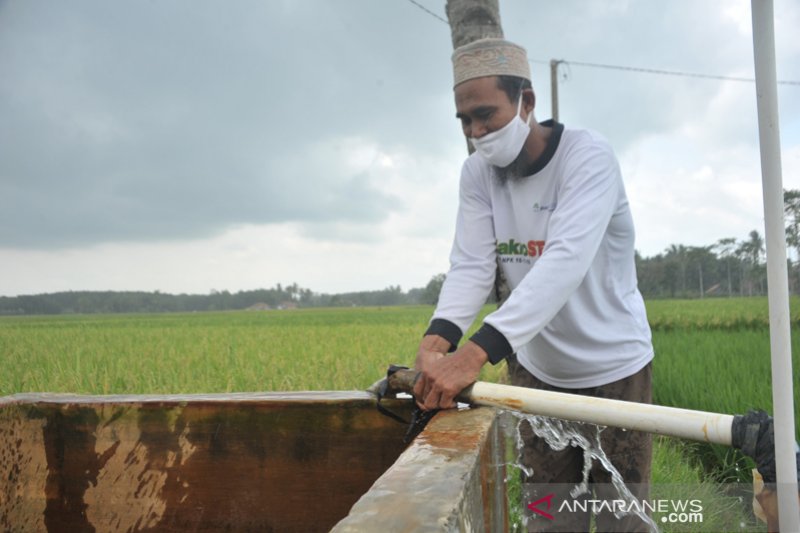
{"label": "clear water splashing down below the white pipe", "polygon": [[[631,494],[630,490],[625,485],[625,481],[622,479],[622,476],[603,451],[603,448],[600,445],[600,433],[605,428],[591,424],[583,424],[580,422],[569,422],[544,416],[527,415],[514,411],[506,411],[506,415],[506,420],[511,420],[513,422],[512,424],[509,424],[509,426],[513,427],[509,427],[508,429],[510,429],[512,432],[511,436],[515,439],[516,450],[518,451],[516,460],[513,463],[509,463],[507,466],[519,468],[527,476],[533,474],[529,467],[526,467],[522,464],[520,451],[522,450],[523,445],[520,425],[527,421],[530,423],[534,434],[537,437],[544,439],[552,450],[560,451],[565,449],[567,446],[578,446],[583,450],[583,480],[575,485],[570,492],[570,496],[576,498],[582,494],[588,493],[591,490],[589,487],[589,473],[592,468],[592,463],[594,461],[599,461],[600,464],[602,464],[603,467],[611,474],[613,486],[618,494],[616,499],[625,502],[625,504],[621,507],[624,509],[629,509],[631,514],[635,514],[641,518],[650,528],[652,533],[659,533],[660,530],[656,523],[650,516],[648,516],[646,512],[644,512],[640,502],[633,494]],[[615,512],[617,517],[621,517],[623,514],[627,513]],[[524,513],[522,516],[523,526],[526,526],[527,518]]]}

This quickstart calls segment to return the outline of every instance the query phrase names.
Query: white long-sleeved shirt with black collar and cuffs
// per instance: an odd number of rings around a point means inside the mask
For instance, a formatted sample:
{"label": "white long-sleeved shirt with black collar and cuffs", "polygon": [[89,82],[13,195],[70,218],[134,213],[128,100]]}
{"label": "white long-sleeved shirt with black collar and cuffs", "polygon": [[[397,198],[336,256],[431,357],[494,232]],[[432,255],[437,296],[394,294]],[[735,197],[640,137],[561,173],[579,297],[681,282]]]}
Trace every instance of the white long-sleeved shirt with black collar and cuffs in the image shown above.
{"label": "white long-sleeved shirt with black collar and cuffs", "polygon": [[482,338],[499,332],[542,381],[595,387],[653,358],[650,328],[614,153],[596,133],[554,126],[540,168],[521,180],[502,185],[480,155],[465,161],[451,268],[432,323],[467,331],[499,259],[512,292],[485,318]]}

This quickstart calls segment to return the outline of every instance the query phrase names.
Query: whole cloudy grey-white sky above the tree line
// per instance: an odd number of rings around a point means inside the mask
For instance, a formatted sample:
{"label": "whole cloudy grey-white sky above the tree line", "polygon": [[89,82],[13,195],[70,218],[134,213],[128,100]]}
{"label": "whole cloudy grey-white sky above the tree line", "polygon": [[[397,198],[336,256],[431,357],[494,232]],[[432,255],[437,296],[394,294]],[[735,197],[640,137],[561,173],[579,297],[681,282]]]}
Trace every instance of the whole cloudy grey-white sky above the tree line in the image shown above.
{"label": "whole cloudy grey-white sky above the tree line", "polygon": [[[444,0],[418,0],[445,18]],[[500,0],[536,117],[605,135],[646,256],[763,233],[747,0]],[[775,0],[785,188],[800,4]],[[408,0],[0,0],[0,295],[317,292],[444,272],[466,148]]]}

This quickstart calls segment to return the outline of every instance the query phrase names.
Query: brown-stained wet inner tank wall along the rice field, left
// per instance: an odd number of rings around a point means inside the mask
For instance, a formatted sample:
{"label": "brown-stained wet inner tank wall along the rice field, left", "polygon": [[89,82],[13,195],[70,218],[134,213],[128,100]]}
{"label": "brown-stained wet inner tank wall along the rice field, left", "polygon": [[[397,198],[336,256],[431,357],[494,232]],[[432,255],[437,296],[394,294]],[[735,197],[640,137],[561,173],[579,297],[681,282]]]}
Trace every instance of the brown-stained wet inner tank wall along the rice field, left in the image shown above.
{"label": "brown-stained wet inner tank wall along the rice field, left", "polygon": [[405,430],[365,392],[0,398],[0,531],[328,531]]}

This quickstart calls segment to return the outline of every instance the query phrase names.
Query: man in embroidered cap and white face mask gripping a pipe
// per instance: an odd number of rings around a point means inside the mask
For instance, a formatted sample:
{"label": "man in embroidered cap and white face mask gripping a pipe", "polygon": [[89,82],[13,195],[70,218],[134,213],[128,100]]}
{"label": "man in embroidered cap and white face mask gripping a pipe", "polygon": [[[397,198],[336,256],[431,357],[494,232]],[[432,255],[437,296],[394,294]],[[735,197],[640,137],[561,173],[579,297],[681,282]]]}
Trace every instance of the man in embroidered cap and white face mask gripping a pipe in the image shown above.
{"label": "man in embroidered cap and white face mask gripping a pipe", "polygon": [[[513,385],[649,402],[653,348],[613,151],[593,132],[533,119],[521,47],[483,39],[457,49],[453,66],[456,117],[476,153],[461,171],[451,268],[417,354],[418,404],[453,407],[485,363],[504,359]],[[486,302],[498,261],[511,295],[457,348]],[[524,479],[528,494],[536,484],[572,487],[583,479],[581,449],[554,452],[529,425],[522,429],[523,459],[533,468]],[[601,438],[625,481],[643,484],[634,492],[645,497],[649,436],[607,428]],[[599,465],[591,481],[599,483],[597,499],[616,499]],[[532,531],[589,528],[588,515],[539,518],[529,522]],[[598,531],[643,527],[636,517],[597,517]]]}

